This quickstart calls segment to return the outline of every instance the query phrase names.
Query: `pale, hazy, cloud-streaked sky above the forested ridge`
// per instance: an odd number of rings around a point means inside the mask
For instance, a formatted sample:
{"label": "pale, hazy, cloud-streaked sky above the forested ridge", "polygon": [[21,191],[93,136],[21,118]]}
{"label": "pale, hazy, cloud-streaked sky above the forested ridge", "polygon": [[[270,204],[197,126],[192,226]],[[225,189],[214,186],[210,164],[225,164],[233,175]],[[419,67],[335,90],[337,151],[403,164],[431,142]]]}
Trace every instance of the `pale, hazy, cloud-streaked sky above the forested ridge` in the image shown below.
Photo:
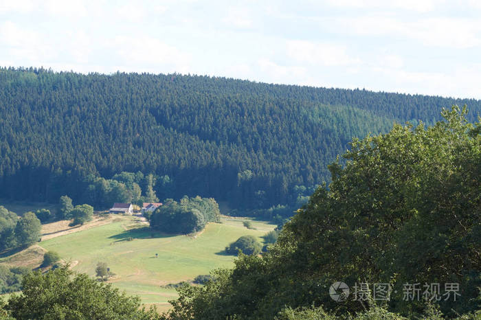
{"label": "pale, hazy, cloud-streaked sky above the forested ridge", "polygon": [[481,1],[0,0],[0,66],[481,99]]}

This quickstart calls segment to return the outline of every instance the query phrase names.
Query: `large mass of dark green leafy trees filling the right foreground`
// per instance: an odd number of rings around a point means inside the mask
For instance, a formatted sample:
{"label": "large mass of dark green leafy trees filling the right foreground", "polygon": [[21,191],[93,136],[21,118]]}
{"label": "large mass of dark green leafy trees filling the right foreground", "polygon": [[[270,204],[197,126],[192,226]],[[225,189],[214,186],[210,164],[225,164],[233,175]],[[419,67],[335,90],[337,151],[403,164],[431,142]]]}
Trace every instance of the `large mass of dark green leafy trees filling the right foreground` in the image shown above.
{"label": "large mass of dark green leafy trees filling the right foreground", "polygon": [[[465,112],[454,106],[434,126],[396,125],[355,139],[346,162],[329,166],[332,183],[316,190],[267,253],[241,255],[215,283],[179,288],[172,315],[315,319],[326,310],[358,319],[479,319],[481,124],[467,123]],[[390,283],[392,295],[339,304],[328,295],[337,281]],[[441,295],[444,284],[457,283],[460,296],[405,301],[404,284],[415,283],[440,284]]]}

